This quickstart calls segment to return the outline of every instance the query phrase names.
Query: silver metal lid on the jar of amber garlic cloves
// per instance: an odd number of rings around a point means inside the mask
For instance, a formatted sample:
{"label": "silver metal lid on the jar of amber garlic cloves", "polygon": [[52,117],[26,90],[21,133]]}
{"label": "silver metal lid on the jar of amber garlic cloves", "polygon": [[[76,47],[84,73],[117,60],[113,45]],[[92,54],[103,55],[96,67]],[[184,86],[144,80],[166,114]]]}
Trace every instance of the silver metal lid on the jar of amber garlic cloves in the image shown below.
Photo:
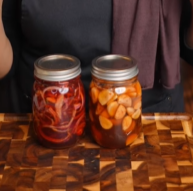
{"label": "silver metal lid on the jar of amber garlic cloves", "polygon": [[91,73],[99,79],[123,81],[135,77],[139,70],[134,58],[112,54],[95,58]]}

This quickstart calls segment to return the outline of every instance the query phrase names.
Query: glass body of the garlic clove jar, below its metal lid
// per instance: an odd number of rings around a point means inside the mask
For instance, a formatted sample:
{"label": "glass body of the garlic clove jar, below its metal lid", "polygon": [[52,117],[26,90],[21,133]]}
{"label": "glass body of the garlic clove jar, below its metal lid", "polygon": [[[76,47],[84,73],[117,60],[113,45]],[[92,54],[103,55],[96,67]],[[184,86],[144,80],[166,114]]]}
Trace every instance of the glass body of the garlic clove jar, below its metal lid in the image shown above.
{"label": "glass body of the garlic clove jar, below its metal lid", "polygon": [[92,77],[89,121],[95,141],[106,148],[130,145],[141,131],[141,86],[137,76],[126,81]]}

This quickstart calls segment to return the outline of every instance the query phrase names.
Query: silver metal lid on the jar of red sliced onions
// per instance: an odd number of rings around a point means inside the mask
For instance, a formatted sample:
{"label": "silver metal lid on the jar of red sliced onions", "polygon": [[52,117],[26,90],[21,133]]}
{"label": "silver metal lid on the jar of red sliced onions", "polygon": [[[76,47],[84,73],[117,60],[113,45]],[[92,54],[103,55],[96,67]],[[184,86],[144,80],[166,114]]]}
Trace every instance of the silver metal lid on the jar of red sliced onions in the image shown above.
{"label": "silver metal lid on the jar of red sliced onions", "polygon": [[66,81],[81,73],[80,61],[66,54],[48,55],[34,63],[34,75],[46,81]]}

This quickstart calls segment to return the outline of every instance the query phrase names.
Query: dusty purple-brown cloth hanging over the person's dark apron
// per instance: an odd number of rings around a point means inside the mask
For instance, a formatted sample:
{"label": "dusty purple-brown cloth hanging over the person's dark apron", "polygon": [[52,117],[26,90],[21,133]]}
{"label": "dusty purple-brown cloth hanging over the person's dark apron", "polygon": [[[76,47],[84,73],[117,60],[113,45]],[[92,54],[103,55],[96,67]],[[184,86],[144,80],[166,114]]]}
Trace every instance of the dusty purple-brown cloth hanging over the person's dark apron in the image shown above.
{"label": "dusty purple-brown cloth hanging over the person's dark apron", "polygon": [[181,4],[182,0],[113,0],[112,53],[137,60],[143,89],[153,87],[156,70],[164,87],[180,82]]}

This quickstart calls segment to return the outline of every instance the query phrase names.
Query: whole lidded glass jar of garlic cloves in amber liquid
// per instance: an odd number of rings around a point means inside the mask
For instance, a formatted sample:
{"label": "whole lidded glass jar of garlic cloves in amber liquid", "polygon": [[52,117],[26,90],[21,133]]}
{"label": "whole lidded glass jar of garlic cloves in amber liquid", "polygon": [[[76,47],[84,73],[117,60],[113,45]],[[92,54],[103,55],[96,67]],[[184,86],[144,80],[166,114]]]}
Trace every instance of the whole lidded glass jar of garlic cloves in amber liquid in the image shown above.
{"label": "whole lidded glass jar of garlic cloves in amber liquid", "polygon": [[92,62],[89,121],[95,141],[106,148],[130,145],[139,135],[141,85],[135,59],[106,55]]}

